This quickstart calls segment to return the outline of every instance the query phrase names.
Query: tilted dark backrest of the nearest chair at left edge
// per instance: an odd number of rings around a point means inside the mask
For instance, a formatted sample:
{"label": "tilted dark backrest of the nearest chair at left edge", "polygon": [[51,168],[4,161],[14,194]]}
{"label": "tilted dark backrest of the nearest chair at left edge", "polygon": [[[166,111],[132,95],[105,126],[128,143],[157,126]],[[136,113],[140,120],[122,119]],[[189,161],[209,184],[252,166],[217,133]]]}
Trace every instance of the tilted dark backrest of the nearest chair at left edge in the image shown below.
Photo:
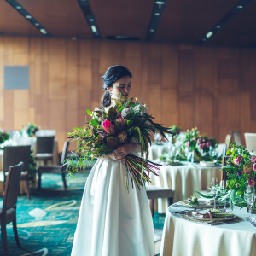
{"label": "tilted dark backrest of the nearest chair at left edge", "polygon": [[9,173],[3,192],[3,214],[10,208],[16,206],[20,190],[20,175],[23,171],[23,166],[23,162],[15,166],[9,166]]}

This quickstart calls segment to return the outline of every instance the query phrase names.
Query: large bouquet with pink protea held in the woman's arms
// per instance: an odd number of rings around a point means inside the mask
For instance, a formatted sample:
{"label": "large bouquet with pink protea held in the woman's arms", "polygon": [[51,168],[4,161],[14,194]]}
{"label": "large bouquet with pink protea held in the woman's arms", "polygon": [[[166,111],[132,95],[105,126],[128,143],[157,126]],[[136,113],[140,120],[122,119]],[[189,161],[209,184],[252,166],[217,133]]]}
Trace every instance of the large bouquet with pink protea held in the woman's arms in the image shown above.
{"label": "large bouquet with pink protea held in the woman's arms", "polygon": [[163,125],[154,123],[154,118],[148,115],[146,106],[132,100],[132,98],[125,102],[119,100],[108,111],[106,108],[97,109],[95,112],[87,109],[87,113],[92,118],[90,122],[67,133],[67,137],[77,143],[76,152],[79,158],[75,166],[72,162],[67,162],[67,170],[74,171],[79,167],[86,167],[88,160],[111,154],[119,145],[139,143],[141,157],[134,154],[125,157],[126,188],[128,189],[129,179],[132,187],[135,182],[139,188],[143,182],[150,182],[149,172],[157,175],[160,165],[148,160],[150,132],[159,132],[165,138],[165,133],[172,132]]}

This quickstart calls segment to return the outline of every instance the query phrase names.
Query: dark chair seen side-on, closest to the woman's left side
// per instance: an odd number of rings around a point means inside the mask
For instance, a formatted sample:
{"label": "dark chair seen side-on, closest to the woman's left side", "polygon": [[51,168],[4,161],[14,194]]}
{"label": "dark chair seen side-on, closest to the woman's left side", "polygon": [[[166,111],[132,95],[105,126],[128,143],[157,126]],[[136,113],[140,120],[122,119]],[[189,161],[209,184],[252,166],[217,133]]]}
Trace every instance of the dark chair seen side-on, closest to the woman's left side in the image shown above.
{"label": "dark chair seen side-on, closest to the woman's left side", "polygon": [[38,167],[38,189],[41,189],[41,176],[43,173],[60,173],[62,176],[64,189],[67,189],[65,171],[66,166],[63,166],[64,161],[67,158],[67,149],[68,149],[69,141],[67,140],[63,144],[62,153],[61,153],[61,164],[58,166],[39,166]]}

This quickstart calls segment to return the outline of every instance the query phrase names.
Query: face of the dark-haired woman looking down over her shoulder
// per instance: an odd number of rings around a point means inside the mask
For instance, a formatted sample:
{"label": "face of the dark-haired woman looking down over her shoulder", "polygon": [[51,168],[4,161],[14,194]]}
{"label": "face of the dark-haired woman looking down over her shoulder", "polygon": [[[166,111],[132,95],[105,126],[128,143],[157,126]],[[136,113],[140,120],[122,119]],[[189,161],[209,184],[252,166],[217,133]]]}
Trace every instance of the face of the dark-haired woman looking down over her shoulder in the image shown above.
{"label": "face of the dark-haired woman looking down over her shoulder", "polygon": [[122,97],[124,96],[125,100],[127,100],[131,90],[131,78],[127,76],[118,79],[113,83],[112,87],[108,87],[108,90],[110,91],[112,98],[119,98],[121,93]]}

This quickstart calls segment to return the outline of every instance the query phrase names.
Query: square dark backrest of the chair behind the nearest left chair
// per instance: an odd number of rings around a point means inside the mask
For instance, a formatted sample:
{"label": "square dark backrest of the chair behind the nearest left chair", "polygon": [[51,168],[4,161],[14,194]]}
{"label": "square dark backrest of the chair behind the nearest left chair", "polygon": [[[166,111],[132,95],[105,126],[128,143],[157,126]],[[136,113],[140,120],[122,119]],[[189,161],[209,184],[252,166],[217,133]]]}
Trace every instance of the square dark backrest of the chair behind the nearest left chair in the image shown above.
{"label": "square dark backrest of the chair behind the nearest left chair", "polygon": [[31,154],[30,145],[5,146],[3,148],[3,171],[8,172],[9,166],[23,162],[23,170],[28,171]]}

